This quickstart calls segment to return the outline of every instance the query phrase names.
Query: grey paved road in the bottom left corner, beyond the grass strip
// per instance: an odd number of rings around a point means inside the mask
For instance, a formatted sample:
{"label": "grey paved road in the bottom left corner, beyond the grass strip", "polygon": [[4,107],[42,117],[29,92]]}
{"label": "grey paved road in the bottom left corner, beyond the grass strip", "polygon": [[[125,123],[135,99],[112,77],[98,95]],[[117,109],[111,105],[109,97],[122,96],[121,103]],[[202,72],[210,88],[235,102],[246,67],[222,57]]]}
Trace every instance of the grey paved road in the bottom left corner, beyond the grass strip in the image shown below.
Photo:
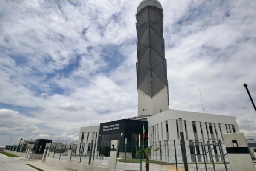
{"label": "grey paved road in the bottom left corner, beyond the grass strip", "polygon": [[0,171],[37,171],[19,160],[0,154]]}

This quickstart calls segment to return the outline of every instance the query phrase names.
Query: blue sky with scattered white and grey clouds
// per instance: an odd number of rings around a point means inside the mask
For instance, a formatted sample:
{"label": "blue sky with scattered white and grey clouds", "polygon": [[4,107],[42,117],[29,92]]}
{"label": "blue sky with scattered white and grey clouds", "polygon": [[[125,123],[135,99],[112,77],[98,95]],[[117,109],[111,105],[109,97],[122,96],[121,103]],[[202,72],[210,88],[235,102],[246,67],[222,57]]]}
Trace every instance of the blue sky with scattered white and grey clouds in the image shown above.
{"label": "blue sky with scattered white and grey clouds", "polygon": [[[0,1],[0,145],[137,115],[140,1]],[[160,1],[169,109],[256,135],[256,2]]]}

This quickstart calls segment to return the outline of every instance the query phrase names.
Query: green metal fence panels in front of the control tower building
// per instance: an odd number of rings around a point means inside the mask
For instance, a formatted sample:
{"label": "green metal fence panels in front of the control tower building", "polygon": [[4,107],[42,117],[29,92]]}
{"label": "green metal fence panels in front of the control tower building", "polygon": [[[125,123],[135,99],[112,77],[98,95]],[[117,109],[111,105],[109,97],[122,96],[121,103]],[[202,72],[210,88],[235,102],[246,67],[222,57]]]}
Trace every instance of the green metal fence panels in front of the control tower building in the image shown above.
{"label": "green metal fence panels in front of the control tower building", "polygon": [[[127,149],[127,151],[125,153],[118,151],[117,169],[140,171],[140,168],[142,168],[142,171],[146,171],[146,157],[142,156],[142,159],[140,159],[140,156],[137,155],[140,150],[139,145],[128,144],[131,143],[127,143],[126,147],[119,146],[119,149]],[[83,149],[83,146],[81,144],[81,149]],[[102,149],[106,150],[105,146],[98,146],[99,151],[97,151],[94,146],[90,148],[92,150],[91,157],[87,151],[81,151],[79,154],[73,153],[71,161],[108,168],[110,151],[101,151]],[[152,142],[150,146],[152,146],[151,155],[149,156],[150,171],[184,171],[184,157],[188,161],[189,171],[231,171],[226,149],[221,139],[185,140],[186,149],[182,149],[180,140]],[[160,147],[160,149],[153,152],[157,147]],[[186,150],[186,156],[184,150]],[[66,160],[67,156],[51,154],[49,157]]]}

